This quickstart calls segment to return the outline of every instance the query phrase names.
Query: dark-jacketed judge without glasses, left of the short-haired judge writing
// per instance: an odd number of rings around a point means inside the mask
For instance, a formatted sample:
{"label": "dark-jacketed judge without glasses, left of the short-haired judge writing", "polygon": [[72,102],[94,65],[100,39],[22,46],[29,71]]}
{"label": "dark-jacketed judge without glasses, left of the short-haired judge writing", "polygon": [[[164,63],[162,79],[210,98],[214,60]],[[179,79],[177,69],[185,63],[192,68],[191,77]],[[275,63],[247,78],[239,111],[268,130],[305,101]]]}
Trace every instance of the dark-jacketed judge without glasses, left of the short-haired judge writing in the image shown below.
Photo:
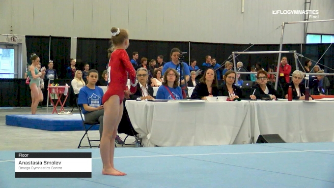
{"label": "dark-jacketed judge without glasses, left of the short-haired judge writing", "polygon": [[255,95],[244,94],[239,86],[234,85],[237,74],[233,70],[227,70],[223,76],[224,83],[219,89],[219,96],[228,96],[229,100],[235,98],[256,99]]}

